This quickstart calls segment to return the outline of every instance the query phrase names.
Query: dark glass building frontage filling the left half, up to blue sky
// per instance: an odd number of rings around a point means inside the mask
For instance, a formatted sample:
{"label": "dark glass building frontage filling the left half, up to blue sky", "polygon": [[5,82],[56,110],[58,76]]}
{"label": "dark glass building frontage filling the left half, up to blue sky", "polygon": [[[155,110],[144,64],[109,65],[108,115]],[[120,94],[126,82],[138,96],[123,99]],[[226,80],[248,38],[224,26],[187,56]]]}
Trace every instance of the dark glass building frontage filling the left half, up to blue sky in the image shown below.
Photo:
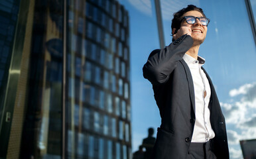
{"label": "dark glass building frontage filling the left half, up to blue sky", "polygon": [[0,158],[131,158],[125,7],[1,1],[0,21]]}

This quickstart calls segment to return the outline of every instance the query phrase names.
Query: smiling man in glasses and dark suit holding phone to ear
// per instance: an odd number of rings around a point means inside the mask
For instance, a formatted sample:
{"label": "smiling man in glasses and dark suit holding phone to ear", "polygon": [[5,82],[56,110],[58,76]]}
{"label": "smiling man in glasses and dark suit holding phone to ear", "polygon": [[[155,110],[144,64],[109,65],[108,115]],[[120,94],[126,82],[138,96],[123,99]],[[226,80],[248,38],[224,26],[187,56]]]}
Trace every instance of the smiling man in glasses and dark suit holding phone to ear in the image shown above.
{"label": "smiling man in glasses and dark suit holding phone to ear", "polygon": [[174,13],[173,42],[151,52],[143,67],[162,118],[153,158],[229,158],[224,115],[198,56],[209,22],[194,5]]}

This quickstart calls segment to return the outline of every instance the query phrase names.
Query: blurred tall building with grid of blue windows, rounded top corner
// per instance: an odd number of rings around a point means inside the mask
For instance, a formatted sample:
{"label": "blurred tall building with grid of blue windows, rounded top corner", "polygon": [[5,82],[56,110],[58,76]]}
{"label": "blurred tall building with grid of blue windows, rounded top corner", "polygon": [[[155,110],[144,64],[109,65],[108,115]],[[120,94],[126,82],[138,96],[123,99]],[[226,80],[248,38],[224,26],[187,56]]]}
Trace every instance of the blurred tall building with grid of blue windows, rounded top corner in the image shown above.
{"label": "blurred tall building with grid of blue windows, rounded top corner", "polygon": [[68,13],[67,150],[129,158],[129,17],[117,1],[74,1]]}

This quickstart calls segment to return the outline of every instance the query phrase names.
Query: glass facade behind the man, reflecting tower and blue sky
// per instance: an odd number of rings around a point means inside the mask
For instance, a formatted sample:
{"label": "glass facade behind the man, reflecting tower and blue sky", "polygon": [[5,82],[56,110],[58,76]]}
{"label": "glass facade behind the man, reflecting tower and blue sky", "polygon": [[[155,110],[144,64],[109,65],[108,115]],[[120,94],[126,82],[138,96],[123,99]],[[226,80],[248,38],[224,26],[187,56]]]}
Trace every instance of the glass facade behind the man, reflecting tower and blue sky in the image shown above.
{"label": "glass facade behind the man, reflecting tower and blue sky", "polygon": [[[159,2],[165,46],[179,9],[211,19],[199,55],[230,158],[243,158],[239,140],[256,138],[256,0]],[[142,75],[156,48],[154,0],[0,1],[0,158],[132,158],[160,125]]]}

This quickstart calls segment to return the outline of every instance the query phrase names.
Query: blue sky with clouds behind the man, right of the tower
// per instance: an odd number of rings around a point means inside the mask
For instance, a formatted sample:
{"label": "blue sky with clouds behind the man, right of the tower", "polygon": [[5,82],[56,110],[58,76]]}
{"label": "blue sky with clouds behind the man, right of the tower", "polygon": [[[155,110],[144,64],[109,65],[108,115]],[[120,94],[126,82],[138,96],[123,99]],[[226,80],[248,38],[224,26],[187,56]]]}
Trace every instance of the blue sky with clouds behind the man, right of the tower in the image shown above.
{"label": "blue sky with clouds behind the man, right of the tower", "polygon": [[[142,68],[151,51],[160,47],[153,0],[119,0],[129,12],[131,54],[132,150],[138,149],[147,129],[155,136],[159,109],[152,85]],[[226,120],[230,158],[242,158],[239,140],[256,138],[256,48],[243,0],[160,0],[165,45],[170,44],[172,14],[197,5],[211,19],[199,55],[214,83]],[[251,1],[256,9],[255,0]],[[255,12],[254,12],[255,14]]]}

